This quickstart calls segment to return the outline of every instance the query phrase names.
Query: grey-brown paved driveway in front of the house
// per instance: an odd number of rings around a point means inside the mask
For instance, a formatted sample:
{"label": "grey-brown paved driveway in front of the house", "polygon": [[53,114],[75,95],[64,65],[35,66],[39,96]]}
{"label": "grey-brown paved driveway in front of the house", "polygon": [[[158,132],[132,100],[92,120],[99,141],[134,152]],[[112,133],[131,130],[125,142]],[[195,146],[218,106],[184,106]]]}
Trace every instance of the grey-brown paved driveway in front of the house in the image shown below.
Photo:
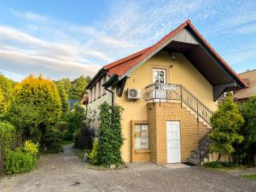
{"label": "grey-brown paved driveway in front of the house", "polygon": [[256,182],[224,172],[199,167],[166,168],[152,164],[130,164],[118,171],[87,169],[73,154],[43,155],[38,168],[17,177],[0,180],[1,192],[134,192],[134,191],[256,191]]}

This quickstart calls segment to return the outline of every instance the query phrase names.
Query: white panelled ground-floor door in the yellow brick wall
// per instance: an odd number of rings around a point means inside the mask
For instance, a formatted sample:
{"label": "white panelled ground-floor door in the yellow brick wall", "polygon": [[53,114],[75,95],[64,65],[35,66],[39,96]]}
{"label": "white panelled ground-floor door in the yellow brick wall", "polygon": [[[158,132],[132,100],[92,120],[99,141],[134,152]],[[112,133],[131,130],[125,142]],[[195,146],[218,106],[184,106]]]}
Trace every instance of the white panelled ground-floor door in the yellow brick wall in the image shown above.
{"label": "white panelled ground-floor door in the yellow brick wall", "polygon": [[166,121],[167,163],[181,162],[179,121]]}

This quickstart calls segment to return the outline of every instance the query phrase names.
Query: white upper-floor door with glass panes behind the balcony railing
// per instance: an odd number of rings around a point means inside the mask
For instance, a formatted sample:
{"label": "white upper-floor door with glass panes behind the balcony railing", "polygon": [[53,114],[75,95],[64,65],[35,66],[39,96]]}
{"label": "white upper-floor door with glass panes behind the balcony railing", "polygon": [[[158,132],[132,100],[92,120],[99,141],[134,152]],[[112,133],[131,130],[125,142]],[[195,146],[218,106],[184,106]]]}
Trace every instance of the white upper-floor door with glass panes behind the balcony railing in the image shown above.
{"label": "white upper-floor door with glass panes behind the balcony railing", "polygon": [[166,69],[153,68],[153,83],[156,83],[153,91],[154,102],[159,102],[160,99],[166,99],[166,90],[163,90],[160,85],[166,84]]}

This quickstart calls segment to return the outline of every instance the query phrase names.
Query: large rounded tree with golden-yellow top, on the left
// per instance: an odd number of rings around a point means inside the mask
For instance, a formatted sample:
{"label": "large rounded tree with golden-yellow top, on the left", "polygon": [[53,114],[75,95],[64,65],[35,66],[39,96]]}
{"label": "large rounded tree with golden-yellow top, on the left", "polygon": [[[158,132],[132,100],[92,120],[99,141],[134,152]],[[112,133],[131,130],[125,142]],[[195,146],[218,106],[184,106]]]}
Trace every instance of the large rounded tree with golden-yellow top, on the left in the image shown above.
{"label": "large rounded tree with golden-yellow top, on the left", "polygon": [[37,118],[33,119],[33,124],[37,125],[36,130],[33,130],[33,134],[30,135],[38,142],[44,137],[47,129],[54,126],[61,116],[61,98],[55,83],[44,79],[41,75],[38,78],[30,75],[20,84],[16,84],[12,104],[32,106],[35,113],[38,113]]}

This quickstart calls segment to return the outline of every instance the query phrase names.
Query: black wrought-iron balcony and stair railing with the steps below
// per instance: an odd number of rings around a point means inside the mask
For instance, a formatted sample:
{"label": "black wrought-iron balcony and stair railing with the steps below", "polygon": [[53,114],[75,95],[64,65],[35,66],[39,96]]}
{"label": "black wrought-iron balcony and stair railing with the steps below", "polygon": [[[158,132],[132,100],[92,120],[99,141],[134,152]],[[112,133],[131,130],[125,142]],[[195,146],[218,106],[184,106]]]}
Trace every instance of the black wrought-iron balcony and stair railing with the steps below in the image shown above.
{"label": "black wrought-iron balcony and stair railing with the steps below", "polygon": [[197,118],[198,122],[202,122],[204,125],[207,125],[207,127],[210,128],[209,131],[201,137],[198,148],[191,151],[188,161],[195,165],[201,165],[202,162],[208,160],[209,145],[211,143],[211,139],[208,136],[212,131],[212,125],[210,122],[210,118],[212,116],[211,109],[207,108],[182,84],[149,84],[146,87],[144,100],[148,102],[179,101],[181,103],[181,108],[188,108],[191,113],[195,114],[195,118]]}

